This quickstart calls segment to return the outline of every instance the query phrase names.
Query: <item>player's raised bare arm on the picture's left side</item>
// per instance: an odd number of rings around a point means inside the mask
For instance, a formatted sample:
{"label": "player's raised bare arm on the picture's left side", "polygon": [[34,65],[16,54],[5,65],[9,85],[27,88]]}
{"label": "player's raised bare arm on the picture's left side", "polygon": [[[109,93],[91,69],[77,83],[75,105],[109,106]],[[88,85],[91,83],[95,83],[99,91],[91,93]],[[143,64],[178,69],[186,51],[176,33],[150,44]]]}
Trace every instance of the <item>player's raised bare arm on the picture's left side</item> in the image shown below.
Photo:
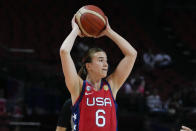
{"label": "player's raised bare arm on the picture's left side", "polygon": [[64,40],[60,48],[60,57],[65,76],[66,86],[71,93],[72,103],[75,103],[80,94],[80,87],[82,85],[82,79],[77,74],[74,62],[71,58],[70,52],[73,47],[74,41],[78,35],[80,35],[80,29],[75,23],[75,17],[72,19],[72,31]]}

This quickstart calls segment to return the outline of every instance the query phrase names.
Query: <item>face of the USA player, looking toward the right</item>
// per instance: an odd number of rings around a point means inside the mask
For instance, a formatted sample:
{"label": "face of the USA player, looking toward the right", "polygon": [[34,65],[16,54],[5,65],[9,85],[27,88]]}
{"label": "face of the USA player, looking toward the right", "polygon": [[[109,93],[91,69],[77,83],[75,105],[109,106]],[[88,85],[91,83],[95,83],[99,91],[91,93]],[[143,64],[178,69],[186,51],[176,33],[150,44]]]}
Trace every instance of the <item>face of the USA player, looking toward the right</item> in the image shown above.
{"label": "face of the USA player, looking toward the right", "polygon": [[108,63],[105,52],[96,52],[93,54],[91,63],[89,63],[89,71],[101,78],[107,76]]}

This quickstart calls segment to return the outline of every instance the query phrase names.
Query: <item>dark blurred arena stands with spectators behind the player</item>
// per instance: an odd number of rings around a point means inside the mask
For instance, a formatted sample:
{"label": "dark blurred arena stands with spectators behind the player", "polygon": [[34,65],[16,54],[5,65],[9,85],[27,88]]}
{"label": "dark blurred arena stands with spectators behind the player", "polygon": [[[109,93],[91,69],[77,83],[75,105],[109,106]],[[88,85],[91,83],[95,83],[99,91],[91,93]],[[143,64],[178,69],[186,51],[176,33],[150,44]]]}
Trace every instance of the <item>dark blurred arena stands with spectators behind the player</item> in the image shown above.
{"label": "dark blurred arena stands with spectators behind the player", "polygon": [[[119,131],[196,128],[195,0],[0,0],[0,130],[54,131],[70,94],[59,49],[73,14],[94,4],[138,51],[117,95]],[[71,55],[103,48],[110,72],[122,58],[108,38],[77,38]]]}

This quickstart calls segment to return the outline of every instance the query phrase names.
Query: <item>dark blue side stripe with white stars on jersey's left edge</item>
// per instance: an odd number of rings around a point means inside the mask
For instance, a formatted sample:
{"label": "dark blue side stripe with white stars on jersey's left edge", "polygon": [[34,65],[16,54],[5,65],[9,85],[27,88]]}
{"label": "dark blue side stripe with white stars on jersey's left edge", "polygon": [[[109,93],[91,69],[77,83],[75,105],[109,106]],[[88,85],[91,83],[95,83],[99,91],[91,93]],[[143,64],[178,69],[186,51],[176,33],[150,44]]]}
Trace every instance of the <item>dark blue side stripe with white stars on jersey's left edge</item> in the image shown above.
{"label": "dark blue side stripe with white stars on jersey's left edge", "polygon": [[79,96],[79,99],[76,101],[76,103],[73,105],[72,107],[72,118],[73,118],[73,122],[74,122],[74,131],[79,131],[79,121],[80,121],[80,102],[82,101],[82,97],[84,95],[85,92],[85,88],[86,88],[86,81],[83,82],[82,85],[82,92]]}

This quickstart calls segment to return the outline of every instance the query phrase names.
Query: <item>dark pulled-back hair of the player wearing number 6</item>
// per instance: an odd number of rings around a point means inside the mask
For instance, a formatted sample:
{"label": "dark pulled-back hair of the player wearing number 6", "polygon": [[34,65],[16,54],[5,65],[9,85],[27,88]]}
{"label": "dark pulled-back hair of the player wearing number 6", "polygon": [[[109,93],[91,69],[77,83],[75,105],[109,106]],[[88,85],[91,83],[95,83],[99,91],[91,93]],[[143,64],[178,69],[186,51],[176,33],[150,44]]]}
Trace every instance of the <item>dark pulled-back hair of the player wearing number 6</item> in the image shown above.
{"label": "dark pulled-back hair of the player wearing number 6", "polygon": [[101,48],[91,48],[88,50],[88,52],[84,55],[82,59],[82,67],[80,68],[78,75],[84,80],[87,76],[87,70],[86,70],[86,63],[89,63],[92,61],[92,57],[96,52],[105,52]]}

